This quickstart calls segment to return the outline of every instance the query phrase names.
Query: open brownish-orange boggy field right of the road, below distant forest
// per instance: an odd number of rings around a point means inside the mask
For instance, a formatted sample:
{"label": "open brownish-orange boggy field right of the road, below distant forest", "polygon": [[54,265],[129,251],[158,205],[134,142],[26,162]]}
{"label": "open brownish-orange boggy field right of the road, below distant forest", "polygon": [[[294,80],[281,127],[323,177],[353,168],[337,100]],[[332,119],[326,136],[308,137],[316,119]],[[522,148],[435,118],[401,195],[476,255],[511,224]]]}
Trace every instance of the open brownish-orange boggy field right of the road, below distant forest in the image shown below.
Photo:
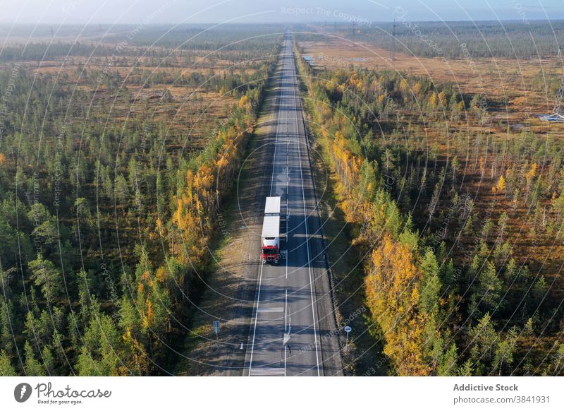
{"label": "open brownish-orange boggy field right of the road, below distant forest", "polygon": [[540,114],[551,112],[562,76],[558,57],[544,59],[445,59],[419,57],[403,52],[389,59],[388,49],[359,40],[320,36],[319,41],[300,42],[303,54],[311,56],[314,65],[329,70],[368,68],[392,70],[424,76],[437,84],[452,83],[459,93],[474,95],[487,92],[496,102],[494,118],[509,124],[531,121],[535,131],[547,130],[546,122],[537,121]]}

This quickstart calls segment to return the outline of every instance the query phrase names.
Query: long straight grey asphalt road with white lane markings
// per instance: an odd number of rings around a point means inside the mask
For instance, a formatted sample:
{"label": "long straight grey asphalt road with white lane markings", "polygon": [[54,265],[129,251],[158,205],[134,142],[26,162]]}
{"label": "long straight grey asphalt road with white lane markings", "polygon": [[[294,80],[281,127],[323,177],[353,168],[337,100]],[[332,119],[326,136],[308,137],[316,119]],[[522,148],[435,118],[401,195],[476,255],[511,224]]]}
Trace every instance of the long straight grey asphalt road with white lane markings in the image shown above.
{"label": "long straight grey asphalt road with white lane markings", "polygon": [[[312,235],[312,227],[317,226],[309,221],[318,217],[289,34],[282,49],[274,110],[276,120],[267,142],[274,154],[270,188],[265,191],[281,196],[281,250],[286,258],[259,268],[244,375],[322,376],[317,313],[321,294],[315,290],[314,275],[326,271],[319,270],[324,266],[319,255],[321,236]],[[330,304],[329,298],[324,299]]]}

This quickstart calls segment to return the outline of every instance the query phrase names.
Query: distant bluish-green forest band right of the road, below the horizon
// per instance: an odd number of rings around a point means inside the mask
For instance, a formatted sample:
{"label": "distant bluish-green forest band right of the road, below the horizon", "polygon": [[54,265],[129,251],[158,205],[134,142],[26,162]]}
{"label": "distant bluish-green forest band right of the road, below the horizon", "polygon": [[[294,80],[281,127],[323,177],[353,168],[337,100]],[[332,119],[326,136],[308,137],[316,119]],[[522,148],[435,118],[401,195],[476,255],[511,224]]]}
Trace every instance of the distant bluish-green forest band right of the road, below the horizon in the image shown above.
{"label": "distant bluish-green forest band right of the road, below the horizon", "polygon": [[[498,57],[534,59],[558,55],[564,44],[564,21],[556,22],[412,22],[398,15],[393,23],[368,26],[329,26],[327,35],[345,35],[350,40],[370,42],[389,50],[395,33],[396,52],[421,57]],[[320,35],[308,35],[316,37]],[[305,40],[306,36],[302,37]]]}

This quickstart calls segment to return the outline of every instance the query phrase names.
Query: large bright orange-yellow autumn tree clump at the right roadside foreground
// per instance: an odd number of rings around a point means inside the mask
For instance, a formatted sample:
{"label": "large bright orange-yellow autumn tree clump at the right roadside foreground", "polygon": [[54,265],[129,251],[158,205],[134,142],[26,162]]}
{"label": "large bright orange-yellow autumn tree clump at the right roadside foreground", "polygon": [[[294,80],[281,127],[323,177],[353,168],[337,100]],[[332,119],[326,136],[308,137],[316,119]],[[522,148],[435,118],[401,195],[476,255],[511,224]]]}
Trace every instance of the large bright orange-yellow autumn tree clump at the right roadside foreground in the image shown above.
{"label": "large bright orange-yellow autumn tree clump at the right roadside foreground", "polygon": [[411,246],[386,234],[369,261],[366,302],[384,333],[384,354],[401,376],[431,373],[422,350],[428,318],[418,309],[422,278]]}

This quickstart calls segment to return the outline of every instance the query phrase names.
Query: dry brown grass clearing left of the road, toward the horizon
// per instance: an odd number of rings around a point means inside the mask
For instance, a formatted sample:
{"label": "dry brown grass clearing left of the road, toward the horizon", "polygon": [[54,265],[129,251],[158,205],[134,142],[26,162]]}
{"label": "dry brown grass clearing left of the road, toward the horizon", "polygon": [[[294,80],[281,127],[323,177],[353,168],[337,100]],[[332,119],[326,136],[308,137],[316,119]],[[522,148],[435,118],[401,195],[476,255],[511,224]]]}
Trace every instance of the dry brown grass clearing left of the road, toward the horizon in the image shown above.
{"label": "dry brown grass clearing left of the road, toward the horizon", "polygon": [[[199,55],[202,54],[202,55]],[[206,53],[207,54],[207,53]],[[97,105],[104,102],[111,107],[111,121],[121,124],[127,118],[145,116],[153,121],[164,121],[170,126],[171,136],[181,136],[188,141],[188,150],[198,150],[204,147],[209,138],[208,134],[213,130],[214,124],[228,116],[228,107],[238,99],[231,94],[221,94],[216,91],[205,90],[202,87],[179,85],[178,83],[154,83],[149,87],[137,84],[138,76],[135,74],[134,64],[140,71],[153,73],[166,73],[168,78],[178,79],[192,72],[200,72],[204,76],[214,73],[222,76],[228,71],[232,63],[222,59],[213,61],[204,58],[204,52],[198,52],[192,57],[192,66],[187,66],[180,57],[174,57],[163,66],[157,66],[159,59],[156,57],[120,56],[116,61],[111,56],[71,56],[67,59],[53,59],[44,61],[23,61],[20,63],[22,69],[27,69],[32,76],[51,76],[54,81],[62,84],[68,90],[82,90],[90,93],[92,104]],[[157,61],[157,63],[155,63]],[[109,66],[111,63],[111,66]],[[11,64],[2,64],[6,69]],[[87,78],[79,73],[85,68]],[[121,98],[116,99],[114,91],[106,89],[106,83],[100,81],[94,90],[93,82],[100,73],[108,71],[119,73],[123,84],[118,88],[127,88],[130,92],[131,102],[125,104]],[[249,67],[242,67],[235,72],[252,73]],[[65,80],[68,76],[68,81]],[[161,99],[165,90],[171,93],[172,101]],[[75,102],[78,104],[78,101]],[[90,100],[87,104],[90,104]],[[178,141],[172,142],[169,150],[179,148]]]}

